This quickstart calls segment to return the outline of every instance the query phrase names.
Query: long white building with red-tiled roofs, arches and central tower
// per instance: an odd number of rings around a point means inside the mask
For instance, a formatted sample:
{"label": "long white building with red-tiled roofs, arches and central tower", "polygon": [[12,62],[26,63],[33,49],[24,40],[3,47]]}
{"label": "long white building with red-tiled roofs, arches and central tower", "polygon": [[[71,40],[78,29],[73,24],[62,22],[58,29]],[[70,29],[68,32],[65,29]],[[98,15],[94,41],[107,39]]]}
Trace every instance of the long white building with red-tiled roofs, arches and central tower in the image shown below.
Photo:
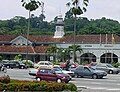
{"label": "long white building with red-tiled roofs, arches and central tower", "polygon": [[[3,59],[14,59],[21,54],[26,59],[38,62],[50,60],[46,53],[49,45],[58,48],[68,48],[74,44],[74,36],[64,33],[64,22],[61,16],[56,23],[54,36],[29,35],[28,46],[26,35],[0,35],[0,55]],[[79,63],[90,62],[120,62],[120,37],[113,34],[76,35],[75,44],[80,45],[83,52],[77,53]]]}

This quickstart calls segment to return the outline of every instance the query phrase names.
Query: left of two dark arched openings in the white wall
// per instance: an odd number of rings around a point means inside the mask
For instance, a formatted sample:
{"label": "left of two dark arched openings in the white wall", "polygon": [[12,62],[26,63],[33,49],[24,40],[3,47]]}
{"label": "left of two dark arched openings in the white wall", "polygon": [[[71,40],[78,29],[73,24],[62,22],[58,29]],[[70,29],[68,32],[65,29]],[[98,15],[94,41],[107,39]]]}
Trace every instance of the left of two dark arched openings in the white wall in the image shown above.
{"label": "left of two dark arched openings in the white wall", "polygon": [[89,64],[96,62],[96,56],[92,53],[84,53],[80,56],[80,64]]}

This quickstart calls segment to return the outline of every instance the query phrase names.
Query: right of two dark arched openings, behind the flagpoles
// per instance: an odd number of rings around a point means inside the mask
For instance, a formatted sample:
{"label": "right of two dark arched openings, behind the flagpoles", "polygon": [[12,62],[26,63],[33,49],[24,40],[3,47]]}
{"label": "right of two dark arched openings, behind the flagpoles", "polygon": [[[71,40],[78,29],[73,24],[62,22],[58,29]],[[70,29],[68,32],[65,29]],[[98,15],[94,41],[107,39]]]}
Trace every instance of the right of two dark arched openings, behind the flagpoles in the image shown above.
{"label": "right of two dark arched openings, behind the flagpoles", "polygon": [[100,57],[101,63],[117,63],[118,62],[118,56],[114,53],[105,53],[101,55]]}

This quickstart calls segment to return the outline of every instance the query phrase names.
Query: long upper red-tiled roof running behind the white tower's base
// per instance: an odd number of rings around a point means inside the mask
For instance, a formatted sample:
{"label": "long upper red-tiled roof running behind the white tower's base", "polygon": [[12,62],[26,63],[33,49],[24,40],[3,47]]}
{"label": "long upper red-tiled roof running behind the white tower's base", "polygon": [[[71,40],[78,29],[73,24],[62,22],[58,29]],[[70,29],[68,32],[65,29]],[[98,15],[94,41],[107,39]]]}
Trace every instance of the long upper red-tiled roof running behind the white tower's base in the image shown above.
{"label": "long upper red-tiled roof running behind the white tower's base", "polygon": [[[17,36],[15,35],[0,35],[0,41],[11,41],[15,39]],[[25,35],[23,37],[26,38]],[[120,42],[120,36],[114,35],[115,42]],[[112,35],[107,35],[107,42],[111,43]],[[29,35],[29,40],[31,42],[41,42],[41,43],[50,43],[50,42],[60,42],[60,43],[71,43],[74,42],[73,35],[67,35],[62,38],[54,38],[51,35]],[[75,37],[75,41],[79,43],[99,43],[100,42],[100,35],[77,35]],[[101,42],[106,42],[106,35],[101,35]]]}

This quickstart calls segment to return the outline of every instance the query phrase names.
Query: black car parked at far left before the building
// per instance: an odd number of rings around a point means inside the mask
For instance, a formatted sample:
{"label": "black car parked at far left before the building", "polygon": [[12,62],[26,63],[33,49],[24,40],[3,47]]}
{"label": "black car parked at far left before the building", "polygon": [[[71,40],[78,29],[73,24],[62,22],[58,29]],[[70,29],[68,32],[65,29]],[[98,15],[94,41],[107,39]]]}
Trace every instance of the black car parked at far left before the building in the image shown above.
{"label": "black car parked at far left before the building", "polygon": [[6,68],[19,68],[19,69],[24,69],[24,68],[27,68],[27,66],[25,64],[23,64],[22,62],[20,61],[9,61],[7,63],[4,63],[4,66]]}

